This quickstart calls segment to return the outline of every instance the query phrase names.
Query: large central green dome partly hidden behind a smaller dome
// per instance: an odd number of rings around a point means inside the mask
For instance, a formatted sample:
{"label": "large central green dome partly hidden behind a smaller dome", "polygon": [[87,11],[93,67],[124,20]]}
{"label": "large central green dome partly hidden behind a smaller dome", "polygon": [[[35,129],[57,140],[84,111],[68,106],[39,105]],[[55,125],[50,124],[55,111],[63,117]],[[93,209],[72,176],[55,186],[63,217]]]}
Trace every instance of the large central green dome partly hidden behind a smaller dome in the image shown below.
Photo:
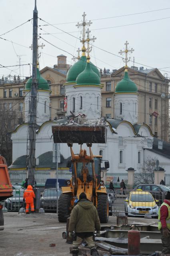
{"label": "large central green dome partly hidden behind a smaller dome", "polygon": [[[78,75],[80,73],[82,73],[82,71],[84,71],[85,67],[86,67],[86,56],[82,56],[74,65],[72,65],[72,67],[70,67],[70,69],[67,72],[67,77],[66,77],[66,84],[67,83],[76,83],[76,78],[78,77]],[[100,76],[100,72],[98,70],[98,68],[91,63],[91,67],[92,70],[98,75]]]}

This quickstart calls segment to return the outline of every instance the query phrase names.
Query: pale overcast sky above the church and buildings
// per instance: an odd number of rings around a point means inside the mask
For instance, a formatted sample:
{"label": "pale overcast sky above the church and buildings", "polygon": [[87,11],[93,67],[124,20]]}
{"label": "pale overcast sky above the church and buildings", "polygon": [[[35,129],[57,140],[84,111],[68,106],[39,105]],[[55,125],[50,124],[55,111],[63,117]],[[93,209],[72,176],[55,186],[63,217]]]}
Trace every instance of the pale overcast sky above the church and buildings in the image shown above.
{"label": "pale overcast sky above the church and buildings", "polygon": [[[158,10],[169,8],[167,10]],[[18,65],[20,56],[21,64],[32,63],[32,51],[29,46],[32,44],[32,21],[16,28],[15,30],[6,33],[8,30],[18,26],[33,16],[34,0],[0,0],[1,10],[1,26],[0,35],[4,39],[0,39],[0,64],[4,66]],[[113,54],[119,55],[120,49],[123,49],[124,43],[127,40],[129,47],[134,49],[131,54],[136,62],[135,66],[150,66],[162,69],[162,74],[168,73],[170,77],[170,1],[169,0],[37,0],[38,17],[42,18],[53,26],[40,26],[38,33],[50,33],[50,35],[42,35],[48,42],[56,47],[61,48],[68,53],[53,47],[43,39],[38,40],[39,44],[44,43],[40,57],[40,69],[45,66],[52,67],[57,63],[57,55],[64,54],[67,56],[67,63],[72,64],[72,55],[76,55],[76,50],[81,47],[78,39],[80,37],[80,28],[77,28],[76,23],[82,20],[83,12],[86,12],[86,19],[92,20],[90,26],[91,36],[97,38],[91,53],[91,61],[104,69],[119,69],[122,67],[123,61],[121,58]],[[158,11],[153,11],[158,10]],[[136,14],[139,12],[147,12]],[[124,16],[127,14],[135,14]],[[109,18],[121,16],[116,18]],[[105,18],[105,19],[101,19]],[[100,20],[98,20],[100,19]],[[161,20],[156,20],[161,19]],[[146,22],[156,20],[153,22]],[[38,19],[38,25],[47,24]],[[142,24],[134,24],[144,22]],[[60,24],[67,23],[67,24]],[[122,26],[127,24],[134,24]],[[119,27],[115,27],[119,26]],[[114,27],[114,28],[108,28]],[[74,37],[61,33],[60,28],[69,32]],[[104,29],[101,29],[104,28]],[[18,45],[19,44],[19,45]],[[106,53],[96,47],[106,50]],[[70,53],[70,54],[69,54]],[[51,55],[51,56],[50,56]],[[133,63],[129,63],[129,66]],[[144,68],[146,68],[144,66]],[[169,68],[166,68],[169,67]],[[149,67],[148,67],[149,68]],[[9,70],[10,69],[10,70]],[[29,66],[9,67],[9,69],[0,69],[0,78],[11,74],[22,76],[30,75]],[[32,67],[31,67],[32,73]]]}

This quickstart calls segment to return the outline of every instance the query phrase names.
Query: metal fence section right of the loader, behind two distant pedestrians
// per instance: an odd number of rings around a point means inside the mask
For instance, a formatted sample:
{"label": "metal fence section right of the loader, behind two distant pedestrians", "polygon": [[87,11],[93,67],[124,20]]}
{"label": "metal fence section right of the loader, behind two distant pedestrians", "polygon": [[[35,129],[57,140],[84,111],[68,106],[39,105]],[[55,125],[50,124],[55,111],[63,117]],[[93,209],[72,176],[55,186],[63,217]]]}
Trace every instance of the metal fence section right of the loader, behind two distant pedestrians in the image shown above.
{"label": "metal fence section right of the loader, behind two distant pedestrians", "polygon": [[128,184],[128,173],[106,173],[106,185],[113,181],[114,185],[120,186],[120,182],[124,180],[124,183]]}

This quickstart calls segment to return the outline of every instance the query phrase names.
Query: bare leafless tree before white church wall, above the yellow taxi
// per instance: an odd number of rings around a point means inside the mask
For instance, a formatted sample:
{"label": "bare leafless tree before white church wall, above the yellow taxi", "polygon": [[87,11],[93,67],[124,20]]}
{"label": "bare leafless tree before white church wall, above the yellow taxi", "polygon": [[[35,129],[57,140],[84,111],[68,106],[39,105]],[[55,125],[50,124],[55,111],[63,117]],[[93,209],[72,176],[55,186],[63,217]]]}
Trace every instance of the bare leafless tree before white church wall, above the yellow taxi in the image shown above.
{"label": "bare leafless tree before white church wall, above the yellow taxi", "polygon": [[144,162],[144,166],[140,169],[139,173],[134,174],[134,183],[138,184],[154,184],[154,170],[156,167],[157,158],[148,156]]}

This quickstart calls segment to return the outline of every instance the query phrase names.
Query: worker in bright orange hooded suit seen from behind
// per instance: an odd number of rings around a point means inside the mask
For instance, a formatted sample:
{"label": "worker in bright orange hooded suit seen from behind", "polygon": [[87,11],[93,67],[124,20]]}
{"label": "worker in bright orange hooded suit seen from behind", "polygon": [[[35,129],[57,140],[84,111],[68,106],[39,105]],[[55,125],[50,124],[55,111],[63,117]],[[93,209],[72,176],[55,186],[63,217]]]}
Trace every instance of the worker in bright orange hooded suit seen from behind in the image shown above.
{"label": "worker in bright orange hooded suit seen from behind", "polygon": [[29,206],[31,208],[31,212],[34,213],[34,198],[35,194],[32,190],[32,186],[28,185],[27,189],[24,191],[23,201],[26,202],[26,214],[29,213]]}

